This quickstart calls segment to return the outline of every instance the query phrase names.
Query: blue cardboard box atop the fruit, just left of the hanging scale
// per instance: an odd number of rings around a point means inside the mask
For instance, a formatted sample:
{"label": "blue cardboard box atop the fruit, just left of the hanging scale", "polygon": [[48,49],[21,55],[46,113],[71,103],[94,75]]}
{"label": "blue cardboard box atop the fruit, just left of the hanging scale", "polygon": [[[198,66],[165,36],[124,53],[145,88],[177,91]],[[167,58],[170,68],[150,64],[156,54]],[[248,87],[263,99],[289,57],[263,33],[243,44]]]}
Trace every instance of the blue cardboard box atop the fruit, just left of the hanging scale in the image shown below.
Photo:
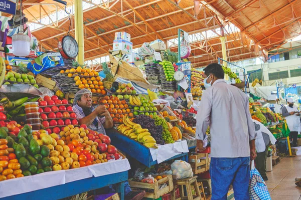
{"label": "blue cardboard box atop the fruit, just left of the hanging scale", "polygon": [[36,75],[55,66],[64,66],[62,55],[59,52],[43,53],[27,64],[27,68]]}

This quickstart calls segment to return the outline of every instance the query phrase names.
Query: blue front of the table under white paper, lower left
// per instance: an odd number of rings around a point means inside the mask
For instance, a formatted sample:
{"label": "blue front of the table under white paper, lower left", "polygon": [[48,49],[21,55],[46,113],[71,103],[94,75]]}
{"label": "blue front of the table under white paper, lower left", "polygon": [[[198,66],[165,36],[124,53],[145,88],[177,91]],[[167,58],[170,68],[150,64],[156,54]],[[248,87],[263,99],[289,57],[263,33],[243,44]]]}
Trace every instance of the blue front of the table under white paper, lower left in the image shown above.
{"label": "blue front of the table under white paper, lower left", "polygon": [[[17,194],[0,198],[1,200],[17,200],[17,199],[39,199],[39,200],[53,200],[72,196],[85,191],[98,189],[110,184],[117,184],[117,192],[120,199],[124,199],[124,181],[128,179],[128,172],[122,171],[108,175],[89,177],[77,181],[68,182],[53,187],[39,189],[31,192]],[[9,191],[7,191],[9,192]]]}

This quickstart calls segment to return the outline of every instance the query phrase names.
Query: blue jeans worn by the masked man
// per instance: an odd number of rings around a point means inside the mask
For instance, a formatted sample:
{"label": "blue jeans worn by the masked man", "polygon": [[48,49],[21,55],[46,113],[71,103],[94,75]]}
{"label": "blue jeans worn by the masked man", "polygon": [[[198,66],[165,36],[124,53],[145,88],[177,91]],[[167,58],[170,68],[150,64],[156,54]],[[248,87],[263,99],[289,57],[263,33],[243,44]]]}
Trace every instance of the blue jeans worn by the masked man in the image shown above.
{"label": "blue jeans worn by the masked man", "polygon": [[212,157],[210,176],[211,200],[226,200],[231,184],[233,185],[235,199],[250,199],[250,157]]}

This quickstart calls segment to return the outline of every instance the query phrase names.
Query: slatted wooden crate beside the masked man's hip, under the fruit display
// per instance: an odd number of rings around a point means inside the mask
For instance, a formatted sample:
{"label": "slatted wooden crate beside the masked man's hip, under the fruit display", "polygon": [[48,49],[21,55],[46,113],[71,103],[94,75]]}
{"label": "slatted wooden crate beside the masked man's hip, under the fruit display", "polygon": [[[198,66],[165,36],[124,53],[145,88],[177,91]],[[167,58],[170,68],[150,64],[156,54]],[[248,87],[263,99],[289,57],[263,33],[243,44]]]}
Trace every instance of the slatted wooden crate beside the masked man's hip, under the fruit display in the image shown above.
{"label": "slatted wooden crate beside the masked man's hip, under the fruit display", "polygon": [[188,162],[194,174],[203,173],[209,170],[210,158],[208,153],[197,153],[189,155]]}

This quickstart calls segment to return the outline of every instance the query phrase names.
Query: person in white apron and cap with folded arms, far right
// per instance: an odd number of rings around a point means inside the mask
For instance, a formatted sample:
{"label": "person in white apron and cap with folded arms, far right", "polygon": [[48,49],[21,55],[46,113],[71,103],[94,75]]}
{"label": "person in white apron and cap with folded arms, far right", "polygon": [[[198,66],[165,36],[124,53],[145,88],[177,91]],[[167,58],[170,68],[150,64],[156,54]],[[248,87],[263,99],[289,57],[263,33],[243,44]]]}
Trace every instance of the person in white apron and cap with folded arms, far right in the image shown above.
{"label": "person in white apron and cap with folded arms, far right", "polygon": [[293,104],[293,99],[291,97],[287,98],[286,101],[287,105],[282,107],[282,116],[285,118],[290,130],[292,147],[296,147],[298,132],[301,131],[300,112],[297,106]]}

